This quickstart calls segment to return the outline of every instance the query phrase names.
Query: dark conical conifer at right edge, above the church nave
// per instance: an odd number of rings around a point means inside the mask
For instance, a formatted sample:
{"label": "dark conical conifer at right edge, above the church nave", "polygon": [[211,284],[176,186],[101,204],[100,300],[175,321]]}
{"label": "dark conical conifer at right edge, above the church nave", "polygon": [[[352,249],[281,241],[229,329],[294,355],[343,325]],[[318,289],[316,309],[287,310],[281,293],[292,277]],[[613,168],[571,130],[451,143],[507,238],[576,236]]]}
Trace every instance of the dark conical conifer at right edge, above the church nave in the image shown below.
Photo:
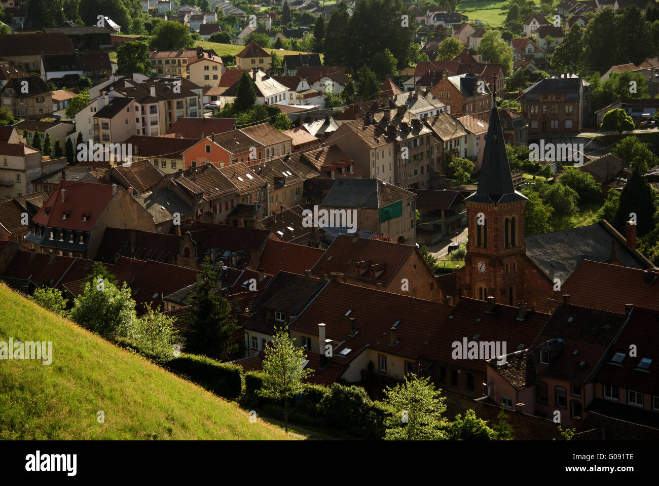
{"label": "dark conical conifer at right edge, above the church nave", "polygon": [[[620,193],[620,204],[616,212],[614,226],[618,231],[623,231],[625,222],[629,221],[630,214],[636,214],[636,234],[643,237],[652,229],[652,217],[654,216],[654,194],[653,189],[643,176],[639,166],[634,167],[631,177]],[[624,231],[623,231],[624,233]]]}

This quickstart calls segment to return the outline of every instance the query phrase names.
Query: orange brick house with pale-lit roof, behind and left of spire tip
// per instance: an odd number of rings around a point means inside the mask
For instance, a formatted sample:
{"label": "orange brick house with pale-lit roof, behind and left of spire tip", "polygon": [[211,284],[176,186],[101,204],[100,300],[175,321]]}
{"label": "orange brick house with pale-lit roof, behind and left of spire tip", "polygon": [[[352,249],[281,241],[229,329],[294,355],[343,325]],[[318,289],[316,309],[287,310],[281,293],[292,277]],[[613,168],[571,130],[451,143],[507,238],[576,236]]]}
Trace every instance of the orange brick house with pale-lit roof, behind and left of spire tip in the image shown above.
{"label": "orange brick house with pale-lit roof, behind and left of spire tip", "polygon": [[473,113],[479,119],[486,119],[487,110],[492,106],[492,93],[487,82],[474,73],[447,76],[444,71],[442,79],[430,88],[430,93],[442,103],[446,100],[446,111],[453,116]]}

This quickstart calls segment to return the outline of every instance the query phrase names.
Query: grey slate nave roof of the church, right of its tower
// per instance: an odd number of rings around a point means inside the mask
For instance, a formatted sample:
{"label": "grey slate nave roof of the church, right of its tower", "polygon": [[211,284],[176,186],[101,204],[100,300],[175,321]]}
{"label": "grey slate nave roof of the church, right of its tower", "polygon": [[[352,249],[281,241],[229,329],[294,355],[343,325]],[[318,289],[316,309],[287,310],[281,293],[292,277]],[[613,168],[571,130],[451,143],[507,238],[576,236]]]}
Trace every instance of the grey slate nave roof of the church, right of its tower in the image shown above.
{"label": "grey slate nave roof of the church, right of its tower", "polygon": [[640,253],[630,249],[625,239],[606,221],[579,228],[555,231],[525,238],[527,257],[545,272],[551,280],[563,282],[583,260],[608,262],[611,258],[612,239],[615,240],[615,258],[631,268],[652,268]]}

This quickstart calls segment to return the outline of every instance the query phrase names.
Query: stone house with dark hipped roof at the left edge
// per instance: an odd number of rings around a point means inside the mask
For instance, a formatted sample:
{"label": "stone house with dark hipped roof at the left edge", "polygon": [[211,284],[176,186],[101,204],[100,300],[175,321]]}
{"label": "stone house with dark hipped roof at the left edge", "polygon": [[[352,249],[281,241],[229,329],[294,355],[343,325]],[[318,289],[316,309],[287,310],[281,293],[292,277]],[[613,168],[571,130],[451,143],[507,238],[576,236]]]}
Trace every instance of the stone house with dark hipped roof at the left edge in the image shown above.
{"label": "stone house with dark hipped roof at the left edge", "polygon": [[2,106],[16,118],[39,119],[53,114],[53,92],[39,76],[11,78],[0,96]]}

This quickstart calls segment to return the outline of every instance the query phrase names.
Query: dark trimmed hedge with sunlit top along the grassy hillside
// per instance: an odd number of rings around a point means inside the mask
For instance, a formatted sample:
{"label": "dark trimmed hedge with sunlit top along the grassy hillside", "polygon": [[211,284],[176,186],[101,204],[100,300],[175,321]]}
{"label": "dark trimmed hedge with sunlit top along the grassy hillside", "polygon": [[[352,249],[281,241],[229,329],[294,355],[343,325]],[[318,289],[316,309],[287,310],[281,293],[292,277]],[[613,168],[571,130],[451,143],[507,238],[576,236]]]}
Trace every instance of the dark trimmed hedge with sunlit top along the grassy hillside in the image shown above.
{"label": "dark trimmed hedge with sunlit top along the grassy hillside", "polygon": [[206,356],[182,354],[168,361],[167,368],[225,398],[236,398],[243,388],[241,367],[220,363]]}

